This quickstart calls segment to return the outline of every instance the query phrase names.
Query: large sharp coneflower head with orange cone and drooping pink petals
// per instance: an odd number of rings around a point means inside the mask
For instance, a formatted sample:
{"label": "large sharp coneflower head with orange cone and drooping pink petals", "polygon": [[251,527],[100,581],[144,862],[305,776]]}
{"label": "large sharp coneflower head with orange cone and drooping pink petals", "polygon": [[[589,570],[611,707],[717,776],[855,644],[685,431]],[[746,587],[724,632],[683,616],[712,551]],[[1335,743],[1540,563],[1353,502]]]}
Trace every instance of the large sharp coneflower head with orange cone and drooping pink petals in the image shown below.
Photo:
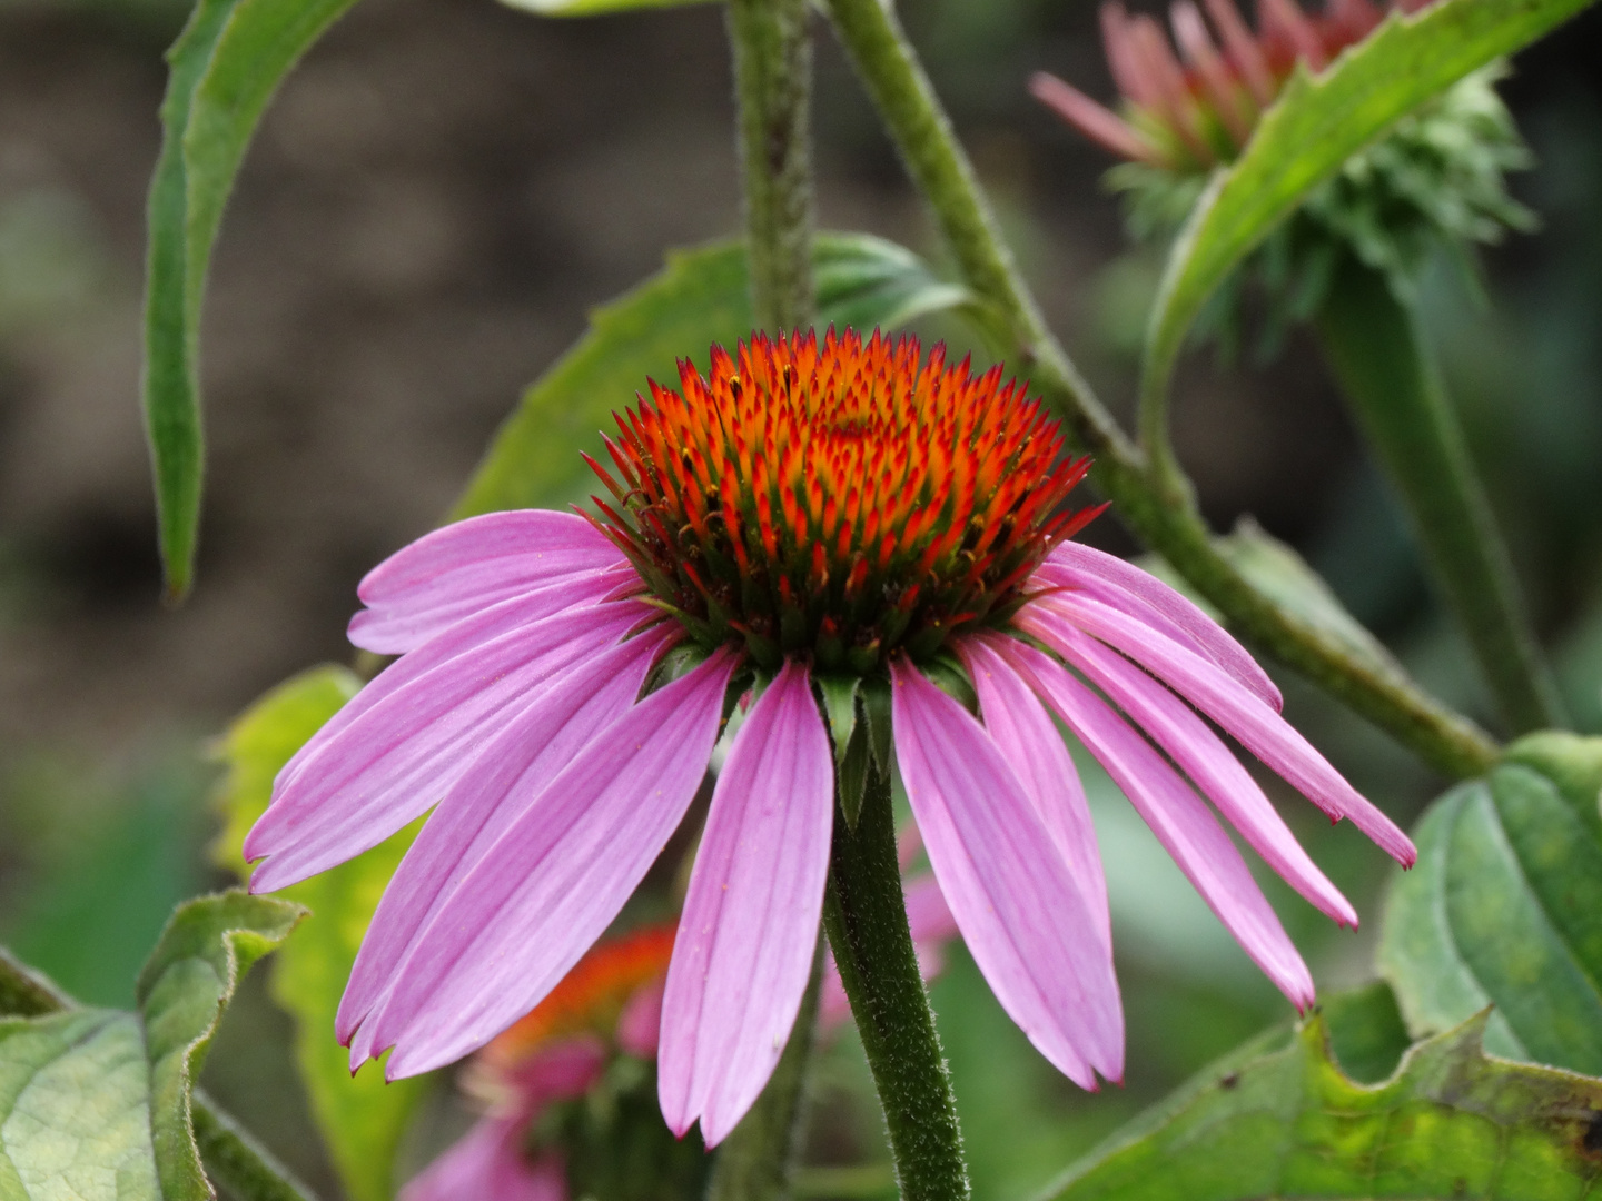
{"label": "large sharp coneflower head with orange cone and drooping pink petals", "polygon": [[[400,653],[284,767],[252,887],[429,809],[340,1006],[351,1063],[450,1063],[545,998],[718,773],[662,1001],[658,1094],[718,1143],[790,1034],[817,945],[835,762],[814,684],[888,689],[940,890],[1001,1006],[1064,1073],[1123,1073],[1101,860],[1057,714],[1298,1006],[1314,994],[1200,789],[1339,922],[1357,914],[1210,717],[1331,818],[1413,847],[1283,717],[1251,657],[1144,572],[1069,541],[1086,461],[1000,368],[916,339],[753,336],[618,420],[599,517],[497,512],[360,584]],[[671,655],[670,649],[676,649]],[[977,714],[931,679],[966,673]],[[1121,714],[1120,714],[1121,709]],[[1189,777],[1189,780],[1187,780]]]}

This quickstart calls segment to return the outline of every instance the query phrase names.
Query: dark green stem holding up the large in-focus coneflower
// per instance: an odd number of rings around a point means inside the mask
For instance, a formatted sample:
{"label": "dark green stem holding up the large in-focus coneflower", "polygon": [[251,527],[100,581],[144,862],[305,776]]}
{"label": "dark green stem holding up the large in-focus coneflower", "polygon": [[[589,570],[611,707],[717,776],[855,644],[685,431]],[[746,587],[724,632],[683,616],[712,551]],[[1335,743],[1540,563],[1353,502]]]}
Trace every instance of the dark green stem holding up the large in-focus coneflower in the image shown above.
{"label": "dark green stem holding up the large in-focus coneflower", "polygon": [[884,1107],[905,1201],[966,1201],[968,1167],[952,1078],[918,974],[889,777],[868,772],[855,831],[835,813],[823,929]]}

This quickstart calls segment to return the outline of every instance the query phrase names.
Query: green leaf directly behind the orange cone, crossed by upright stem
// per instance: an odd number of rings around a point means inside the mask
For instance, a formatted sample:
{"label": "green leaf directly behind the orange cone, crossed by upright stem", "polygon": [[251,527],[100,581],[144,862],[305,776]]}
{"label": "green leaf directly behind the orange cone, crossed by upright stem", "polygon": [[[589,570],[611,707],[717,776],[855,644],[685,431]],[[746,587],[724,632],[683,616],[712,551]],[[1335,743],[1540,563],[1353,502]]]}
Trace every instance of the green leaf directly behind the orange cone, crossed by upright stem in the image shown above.
{"label": "green leaf directly behind the orange cone, crossed by upright stem", "polygon": [[[894,328],[969,293],[942,283],[910,250],[868,234],[819,234],[814,251],[819,328]],[[670,251],[666,267],[590,315],[590,330],[527,392],[479,464],[452,519],[495,509],[559,508],[599,487],[578,458],[604,458],[598,431],[652,378],[678,384],[679,359],[751,333],[745,248],[721,242]]]}

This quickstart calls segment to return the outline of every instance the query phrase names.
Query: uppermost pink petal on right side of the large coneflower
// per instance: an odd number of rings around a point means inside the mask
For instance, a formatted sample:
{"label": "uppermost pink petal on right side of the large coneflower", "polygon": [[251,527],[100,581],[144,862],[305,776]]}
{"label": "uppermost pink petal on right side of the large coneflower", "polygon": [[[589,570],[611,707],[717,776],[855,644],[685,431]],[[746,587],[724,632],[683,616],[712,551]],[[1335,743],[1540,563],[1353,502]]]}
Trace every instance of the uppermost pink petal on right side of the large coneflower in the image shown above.
{"label": "uppermost pink petal on right side of the large coneflower", "polygon": [[1123,609],[1157,626],[1168,637],[1218,663],[1275,713],[1285,698],[1269,674],[1243,645],[1193,600],[1118,556],[1083,543],[1057,543],[1033,576],[1036,581],[1077,588],[1113,609]]}

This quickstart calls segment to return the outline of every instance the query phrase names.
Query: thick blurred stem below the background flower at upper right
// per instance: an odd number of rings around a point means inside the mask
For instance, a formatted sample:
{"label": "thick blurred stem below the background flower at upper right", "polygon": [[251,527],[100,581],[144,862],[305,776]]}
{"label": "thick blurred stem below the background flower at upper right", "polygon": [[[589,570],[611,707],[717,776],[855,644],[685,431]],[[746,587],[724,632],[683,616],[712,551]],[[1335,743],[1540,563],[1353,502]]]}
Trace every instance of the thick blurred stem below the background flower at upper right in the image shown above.
{"label": "thick blurred stem below the background flower at upper right", "polygon": [[1517,733],[1562,725],[1557,687],[1418,314],[1381,272],[1349,258],[1318,333],[1503,716]]}

